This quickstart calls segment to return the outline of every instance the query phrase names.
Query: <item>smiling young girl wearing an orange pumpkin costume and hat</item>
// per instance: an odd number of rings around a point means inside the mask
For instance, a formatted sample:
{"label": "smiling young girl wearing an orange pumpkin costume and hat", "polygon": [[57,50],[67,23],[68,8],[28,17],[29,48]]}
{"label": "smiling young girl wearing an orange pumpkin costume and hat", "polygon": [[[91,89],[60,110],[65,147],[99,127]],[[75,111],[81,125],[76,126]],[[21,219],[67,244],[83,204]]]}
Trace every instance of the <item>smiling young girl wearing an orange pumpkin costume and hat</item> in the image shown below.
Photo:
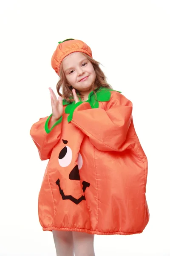
{"label": "smiling young girl wearing an orange pumpkin costume and hat", "polygon": [[94,256],[94,234],[130,235],[146,227],[147,157],[132,102],[106,82],[87,44],[59,42],[51,65],[59,97],[49,88],[52,113],[30,131],[40,159],[49,159],[39,220],[52,231],[57,255]]}

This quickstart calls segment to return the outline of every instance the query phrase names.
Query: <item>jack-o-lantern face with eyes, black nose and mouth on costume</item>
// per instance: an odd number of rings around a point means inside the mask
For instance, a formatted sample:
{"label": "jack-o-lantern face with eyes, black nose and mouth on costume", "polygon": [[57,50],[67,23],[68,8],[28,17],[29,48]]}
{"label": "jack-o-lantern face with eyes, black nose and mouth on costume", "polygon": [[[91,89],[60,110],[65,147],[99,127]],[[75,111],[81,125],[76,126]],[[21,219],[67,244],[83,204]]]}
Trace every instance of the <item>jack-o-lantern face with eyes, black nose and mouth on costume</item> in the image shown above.
{"label": "jack-o-lantern face with eyes, black nose and mouth on costume", "polygon": [[[64,144],[68,143],[67,140],[62,140],[62,142]],[[62,150],[59,152],[59,157],[58,157],[59,165],[61,167],[69,166],[71,163],[71,160],[72,160],[72,149],[69,146],[63,147]],[[70,180],[80,180],[79,169],[82,168],[82,164],[83,164],[82,156],[80,153],[78,155],[77,163],[78,164],[74,166],[74,168],[71,170],[68,176]],[[63,200],[66,200],[66,199],[71,200],[74,204],[79,204],[82,200],[86,200],[85,195],[82,195],[78,199],[74,198],[72,195],[65,195],[59,183],[60,183],[60,180],[58,179],[56,181],[56,184],[59,186],[59,193],[61,194]],[[83,185],[82,190],[84,193],[85,189],[90,186],[90,183],[83,180],[82,185]]]}

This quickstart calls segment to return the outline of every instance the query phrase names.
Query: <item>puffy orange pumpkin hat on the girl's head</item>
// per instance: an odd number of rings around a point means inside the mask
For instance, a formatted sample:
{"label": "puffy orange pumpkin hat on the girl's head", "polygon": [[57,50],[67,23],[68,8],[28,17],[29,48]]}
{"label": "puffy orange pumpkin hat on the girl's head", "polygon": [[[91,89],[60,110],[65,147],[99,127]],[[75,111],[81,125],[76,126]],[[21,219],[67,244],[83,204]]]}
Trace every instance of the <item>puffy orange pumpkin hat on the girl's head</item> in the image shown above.
{"label": "puffy orange pumpkin hat on the girl's head", "polygon": [[58,76],[62,60],[72,52],[84,52],[92,58],[91,48],[83,41],[70,38],[59,42],[51,58],[51,66]]}

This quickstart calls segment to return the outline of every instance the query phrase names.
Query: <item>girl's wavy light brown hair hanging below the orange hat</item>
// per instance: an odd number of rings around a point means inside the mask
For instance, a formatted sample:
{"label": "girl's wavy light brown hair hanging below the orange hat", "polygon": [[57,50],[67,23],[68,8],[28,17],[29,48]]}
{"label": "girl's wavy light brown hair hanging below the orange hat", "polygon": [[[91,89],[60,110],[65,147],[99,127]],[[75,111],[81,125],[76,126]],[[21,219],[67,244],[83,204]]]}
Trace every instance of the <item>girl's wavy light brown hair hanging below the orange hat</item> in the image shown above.
{"label": "girl's wavy light brown hair hanging below the orange hat", "polygon": [[[99,87],[106,87],[106,88],[111,88],[111,85],[107,83],[107,78],[105,76],[105,74],[103,73],[103,71],[101,70],[101,68],[99,67],[100,62],[95,61],[93,58],[91,58],[90,56],[88,56],[87,54],[83,53],[83,55],[85,55],[85,57],[88,58],[88,60],[91,62],[91,64],[94,67],[94,71],[96,73],[96,79],[94,81],[93,84],[93,92],[96,96],[96,91],[99,89]],[[62,96],[63,99],[65,99],[67,102],[74,102],[74,96],[72,93],[72,89],[73,87],[71,86],[71,84],[68,83],[66,77],[65,77],[65,73],[63,71],[62,68],[62,63],[60,65],[60,72],[59,72],[59,81],[57,83],[57,93],[59,96]],[[59,92],[60,88],[62,87],[62,93]],[[76,90],[77,96],[80,97],[81,99],[84,99],[84,95],[82,95],[78,90]]]}

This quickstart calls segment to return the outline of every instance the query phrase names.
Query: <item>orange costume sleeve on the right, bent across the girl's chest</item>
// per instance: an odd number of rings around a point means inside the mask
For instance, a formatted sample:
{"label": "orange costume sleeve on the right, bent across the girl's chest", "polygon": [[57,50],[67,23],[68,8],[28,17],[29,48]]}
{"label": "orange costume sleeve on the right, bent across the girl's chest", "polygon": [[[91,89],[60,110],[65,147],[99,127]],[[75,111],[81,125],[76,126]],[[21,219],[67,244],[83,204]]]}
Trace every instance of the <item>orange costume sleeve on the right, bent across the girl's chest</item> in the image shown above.
{"label": "orange costume sleeve on the right, bent across the girl's chest", "polygon": [[91,108],[88,102],[77,102],[68,122],[85,133],[101,151],[124,151],[130,144],[127,132],[132,120],[132,102],[119,92],[112,92],[106,110]]}

